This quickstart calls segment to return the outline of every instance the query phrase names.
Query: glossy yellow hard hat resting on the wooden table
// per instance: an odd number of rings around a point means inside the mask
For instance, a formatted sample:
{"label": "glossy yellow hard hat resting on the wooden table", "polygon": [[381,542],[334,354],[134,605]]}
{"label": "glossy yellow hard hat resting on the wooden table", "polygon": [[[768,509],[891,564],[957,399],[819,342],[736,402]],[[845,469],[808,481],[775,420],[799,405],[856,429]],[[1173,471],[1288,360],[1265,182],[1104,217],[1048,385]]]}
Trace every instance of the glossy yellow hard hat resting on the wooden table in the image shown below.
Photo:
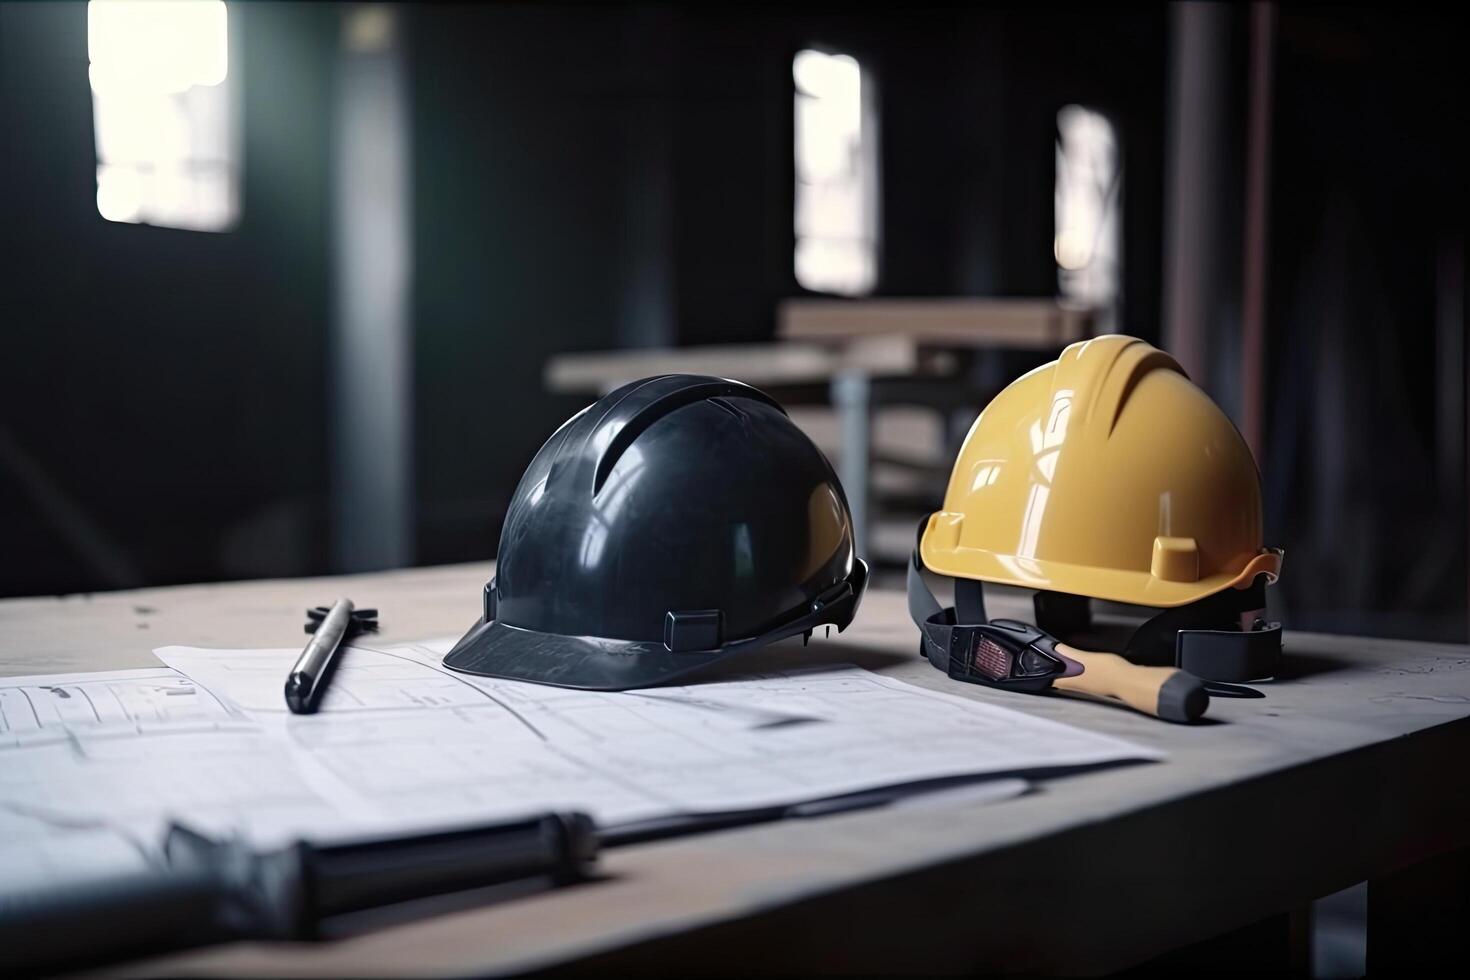
{"label": "glossy yellow hard hat resting on the wooden table", "polygon": [[920,560],[1045,595],[1204,604],[1207,626],[1250,632],[1282,552],[1263,545],[1261,478],[1230,420],[1169,354],[1108,335],[1067,347],[980,413]]}

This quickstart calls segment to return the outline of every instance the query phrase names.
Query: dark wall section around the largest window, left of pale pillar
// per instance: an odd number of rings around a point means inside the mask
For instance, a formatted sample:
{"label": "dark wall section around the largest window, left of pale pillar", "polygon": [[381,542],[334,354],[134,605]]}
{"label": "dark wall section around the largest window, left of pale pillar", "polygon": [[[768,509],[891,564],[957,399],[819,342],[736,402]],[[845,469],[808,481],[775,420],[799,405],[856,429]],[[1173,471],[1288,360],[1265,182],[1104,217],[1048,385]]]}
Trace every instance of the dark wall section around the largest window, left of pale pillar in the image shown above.
{"label": "dark wall section around the largest window, left of pale pillar", "polygon": [[0,4],[0,592],[319,570],[335,12],[237,4],[243,220],[97,215],[84,3]]}

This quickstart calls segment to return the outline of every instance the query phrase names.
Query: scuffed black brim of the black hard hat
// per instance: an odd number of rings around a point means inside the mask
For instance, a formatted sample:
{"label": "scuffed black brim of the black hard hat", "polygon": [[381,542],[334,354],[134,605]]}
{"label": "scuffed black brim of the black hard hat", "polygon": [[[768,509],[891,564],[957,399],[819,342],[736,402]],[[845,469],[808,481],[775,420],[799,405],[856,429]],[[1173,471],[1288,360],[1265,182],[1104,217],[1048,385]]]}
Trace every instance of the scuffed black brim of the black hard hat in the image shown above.
{"label": "scuffed black brim of the black hard hat", "polygon": [[738,646],[673,652],[660,642],[560,636],[492,620],[466,633],[444,657],[444,666],[556,688],[631,691],[667,683],[736,652]]}

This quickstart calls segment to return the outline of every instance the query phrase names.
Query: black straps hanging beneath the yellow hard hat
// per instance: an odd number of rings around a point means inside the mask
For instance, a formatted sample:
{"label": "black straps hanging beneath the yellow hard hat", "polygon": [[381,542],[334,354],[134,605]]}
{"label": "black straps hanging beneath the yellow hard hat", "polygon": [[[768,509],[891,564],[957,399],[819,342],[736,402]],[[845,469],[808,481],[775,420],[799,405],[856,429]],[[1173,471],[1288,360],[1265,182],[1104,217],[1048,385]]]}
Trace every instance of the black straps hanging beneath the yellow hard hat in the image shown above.
{"label": "black straps hanging beneath the yellow hard hat", "polygon": [[[925,522],[919,523],[923,533]],[[908,617],[923,635],[923,654],[941,670],[950,661],[957,629],[989,621],[985,586],[954,579],[954,607],[944,608],[920,574],[914,547],[908,558]],[[1036,626],[1054,636],[1086,629],[1089,601],[1066,592],[1038,592]],[[1202,599],[1163,610],[1145,620],[1122,651],[1138,664],[1173,666],[1204,680],[1244,682],[1274,677],[1280,670],[1282,626],[1266,621],[1266,580],[1244,589],[1222,589]]]}

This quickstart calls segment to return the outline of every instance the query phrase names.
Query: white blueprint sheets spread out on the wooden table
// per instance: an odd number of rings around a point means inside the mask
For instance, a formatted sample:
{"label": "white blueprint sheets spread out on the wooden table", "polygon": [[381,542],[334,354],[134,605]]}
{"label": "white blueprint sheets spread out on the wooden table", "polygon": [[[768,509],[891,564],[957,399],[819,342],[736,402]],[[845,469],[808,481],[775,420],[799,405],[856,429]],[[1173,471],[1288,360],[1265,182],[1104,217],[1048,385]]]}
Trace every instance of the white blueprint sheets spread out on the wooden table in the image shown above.
{"label": "white blueprint sheets spread out on the wooden table", "polygon": [[0,679],[0,879],[137,860],[171,820],[260,845],[544,810],[616,827],[1160,758],[857,667],[604,693],[448,671],[447,646],[344,649],[315,716],[285,711],[294,649]]}

